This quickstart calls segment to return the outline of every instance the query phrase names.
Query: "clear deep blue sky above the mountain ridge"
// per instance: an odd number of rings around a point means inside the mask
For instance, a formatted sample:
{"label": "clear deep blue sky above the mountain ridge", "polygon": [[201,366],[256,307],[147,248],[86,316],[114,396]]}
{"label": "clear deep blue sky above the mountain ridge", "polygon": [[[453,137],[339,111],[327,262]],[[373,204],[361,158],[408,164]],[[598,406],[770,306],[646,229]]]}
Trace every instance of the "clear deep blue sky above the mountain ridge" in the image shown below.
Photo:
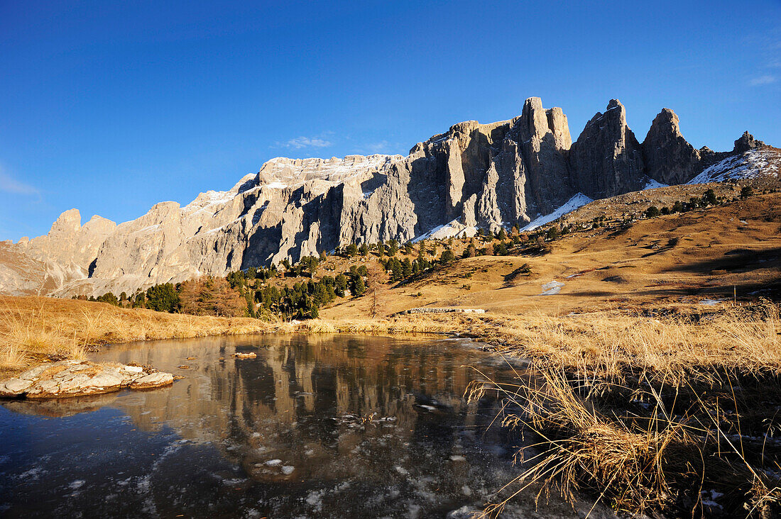
{"label": "clear deep blue sky above the mountain ridge", "polygon": [[619,98],[640,140],[669,107],[697,148],[781,146],[781,2],[0,0],[0,240],[280,155],[406,154],[530,96],[573,137]]}

